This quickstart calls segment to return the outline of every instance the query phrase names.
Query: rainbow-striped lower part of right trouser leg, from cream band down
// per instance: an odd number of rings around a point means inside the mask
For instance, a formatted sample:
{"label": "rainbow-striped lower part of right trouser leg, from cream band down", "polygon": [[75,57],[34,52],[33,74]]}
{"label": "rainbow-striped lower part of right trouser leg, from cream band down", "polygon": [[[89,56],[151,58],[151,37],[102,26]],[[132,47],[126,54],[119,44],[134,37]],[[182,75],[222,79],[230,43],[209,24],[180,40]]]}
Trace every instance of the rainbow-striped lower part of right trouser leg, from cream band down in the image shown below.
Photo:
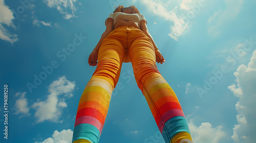
{"label": "rainbow-striped lower part of right trouser leg, from cream band down", "polygon": [[165,142],[192,140],[176,94],[162,77],[148,81],[143,94]]}

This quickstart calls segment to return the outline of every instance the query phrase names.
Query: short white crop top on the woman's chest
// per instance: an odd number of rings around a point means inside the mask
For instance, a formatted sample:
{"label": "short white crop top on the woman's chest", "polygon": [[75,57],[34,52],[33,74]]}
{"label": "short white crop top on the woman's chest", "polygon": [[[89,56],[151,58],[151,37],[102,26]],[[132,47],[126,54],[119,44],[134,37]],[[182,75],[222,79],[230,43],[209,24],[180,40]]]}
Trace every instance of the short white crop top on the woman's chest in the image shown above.
{"label": "short white crop top on the woman's chest", "polygon": [[[140,13],[129,14],[124,12],[111,13],[108,18],[114,19],[114,25],[118,20],[135,20],[139,23],[139,25],[141,20],[146,20],[145,17]],[[106,20],[108,18],[106,18]],[[106,20],[105,20],[105,25],[106,25]]]}

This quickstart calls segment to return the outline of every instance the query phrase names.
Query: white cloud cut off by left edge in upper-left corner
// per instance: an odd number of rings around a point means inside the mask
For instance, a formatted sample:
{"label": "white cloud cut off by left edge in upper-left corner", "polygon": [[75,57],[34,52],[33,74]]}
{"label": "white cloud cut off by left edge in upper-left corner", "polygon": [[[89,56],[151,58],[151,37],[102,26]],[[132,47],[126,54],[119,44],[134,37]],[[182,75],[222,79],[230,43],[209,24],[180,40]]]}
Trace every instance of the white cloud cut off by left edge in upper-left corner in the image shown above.
{"label": "white cloud cut off by left edge in upper-left corner", "polygon": [[12,11],[9,9],[8,6],[5,5],[4,0],[0,0],[0,38],[2,40],[6,40],[13,44],[14,42],[18,41],[18,35],[11,34],[5,27],[6,25],[8,28],[11,27],[15,29],[15,26],[12,23],[14,19]]}

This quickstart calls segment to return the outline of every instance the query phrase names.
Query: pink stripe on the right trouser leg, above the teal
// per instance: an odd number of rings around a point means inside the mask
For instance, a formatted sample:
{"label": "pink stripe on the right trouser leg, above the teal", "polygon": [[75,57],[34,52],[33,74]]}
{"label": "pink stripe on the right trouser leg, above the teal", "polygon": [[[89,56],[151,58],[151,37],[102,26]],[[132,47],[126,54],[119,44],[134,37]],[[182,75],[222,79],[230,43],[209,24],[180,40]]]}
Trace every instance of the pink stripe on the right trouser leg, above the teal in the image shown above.
{"label": "pink stripe on the right trouser leg, above the teal", "polygon": [[165,113],[161,116],[161,118],[162,118],[163,121],[160,121],[160,122],[158,123],[158,125],[157,125],[157,126],[158,126],[158,129],[160,130],[161,133],[162,133],[163,128],[164,128],[164,125],[163,125],[161,122],[163,122],[163,123],[165,124],[170,118],[175,117],[175,116],[184,116],[184,117],[185,117],[183,111],[180,110],[180,109],[172,109],[172,110],[169,110],[169,111],[165,112]]}

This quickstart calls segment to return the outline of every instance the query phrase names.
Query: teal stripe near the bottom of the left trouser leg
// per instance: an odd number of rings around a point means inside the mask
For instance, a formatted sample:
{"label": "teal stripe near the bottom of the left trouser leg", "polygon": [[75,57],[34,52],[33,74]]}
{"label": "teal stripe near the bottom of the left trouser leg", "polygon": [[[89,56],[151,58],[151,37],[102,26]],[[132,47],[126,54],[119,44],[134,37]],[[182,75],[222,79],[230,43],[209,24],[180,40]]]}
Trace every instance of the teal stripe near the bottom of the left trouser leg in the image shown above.
{"label": "teal stripe near the bottom of the left trouser leg", "polygon": [[99,135],[99,130],[95,126],[91,124],[79,124],[74,128],[72,142],[77,139],[87,139],[92,143],[97,143]]}

